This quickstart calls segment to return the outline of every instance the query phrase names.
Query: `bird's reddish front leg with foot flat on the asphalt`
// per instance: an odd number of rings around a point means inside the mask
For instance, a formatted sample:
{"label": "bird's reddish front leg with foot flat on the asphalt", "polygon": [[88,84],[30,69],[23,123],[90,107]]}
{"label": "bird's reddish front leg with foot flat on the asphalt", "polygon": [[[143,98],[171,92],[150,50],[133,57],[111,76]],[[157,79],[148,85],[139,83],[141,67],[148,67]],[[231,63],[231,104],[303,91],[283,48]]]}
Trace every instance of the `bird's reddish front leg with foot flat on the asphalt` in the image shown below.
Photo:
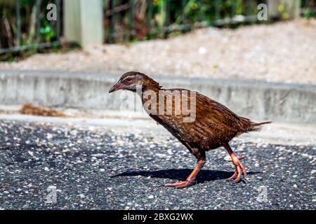
{"label": "bird's reddish front leg with foot flat on the asphalt", "polygon": [[[199,157],[197,159],[197,165],[195,165],[195,169],[193,169],[191,174],[189,176],[187,176],[187,179],[185,179],[185,181],[166,183],[165,186],[166,187],[176,187],[176,188],[186,188],[188,186],[192,186],[193,184],[195,184],[195,179],[197,177],[197,174],[199,173],[199,171],[202,169],[202,167],[204,166],[204,164],[206,162],[205,152],[203,152],[202,154],[204,156]],[[197,156],[197,155],[195,155],[195,156]]]}

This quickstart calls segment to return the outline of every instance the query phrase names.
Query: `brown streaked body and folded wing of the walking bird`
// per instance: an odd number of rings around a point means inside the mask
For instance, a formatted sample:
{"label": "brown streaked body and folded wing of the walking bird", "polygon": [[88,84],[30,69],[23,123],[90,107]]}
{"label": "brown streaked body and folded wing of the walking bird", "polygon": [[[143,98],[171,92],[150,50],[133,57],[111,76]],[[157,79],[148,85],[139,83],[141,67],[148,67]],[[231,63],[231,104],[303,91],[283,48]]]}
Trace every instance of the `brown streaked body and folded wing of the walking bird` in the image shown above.
{"label": "brown streaked body and folded wing of the walking bird", "polygon": [[[174,97],[176,91],[181,94],[180,114],[176,114],[178,102]],[[242,130],[242,120],[239,116],[198,92],[169,89],[165,92],[164,100],[160,103],[158,100],[158,108],[161,108],[162,102],[164,102],[164,113],[150,116],[180,141],[190,146],[208,148],[211,144],[220,145],[230,141]],[[172,105],[172,113],[168,115],[170,105]]]}

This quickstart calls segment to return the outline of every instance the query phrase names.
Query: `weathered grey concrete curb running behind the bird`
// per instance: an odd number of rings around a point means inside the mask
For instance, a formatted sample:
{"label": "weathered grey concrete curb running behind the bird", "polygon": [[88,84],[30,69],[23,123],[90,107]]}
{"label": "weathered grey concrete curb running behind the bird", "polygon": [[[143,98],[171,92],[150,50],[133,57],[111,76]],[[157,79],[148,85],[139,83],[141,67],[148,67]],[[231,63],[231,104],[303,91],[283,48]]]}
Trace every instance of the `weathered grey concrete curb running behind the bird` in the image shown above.
{"label": "weathered grey concrete curb running behind the bird", "polygon": [[[121,93],[108,94],[119,74],[69,71],[0,71],[0,104],[120,110]],[[254,120],[316,123],[316,85],[255,80],[154,77],[164,87],[197,90]],[[124,92],[126,94],[126,92]],[[133,94],[129,93],[130,96]],[[140,105],[136,105],[140,109]],[[129,110],[132,110],[129,108]]]}

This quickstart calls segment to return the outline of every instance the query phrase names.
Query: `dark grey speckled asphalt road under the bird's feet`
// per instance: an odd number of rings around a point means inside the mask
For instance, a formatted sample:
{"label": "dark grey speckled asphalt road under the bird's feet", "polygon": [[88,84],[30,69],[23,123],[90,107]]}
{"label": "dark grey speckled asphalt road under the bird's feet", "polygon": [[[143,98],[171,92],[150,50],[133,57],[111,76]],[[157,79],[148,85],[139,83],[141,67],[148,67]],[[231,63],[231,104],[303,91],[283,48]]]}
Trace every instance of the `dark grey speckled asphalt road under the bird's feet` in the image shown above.
{"label": "dark grey speckled asphalt road under the bird's feet", "polygon": [[249,172],[228,181],[228,153],[194,156],[169,134],[135,129],[0,121],[0,209],[316,209],[316,146],[232,141]]}

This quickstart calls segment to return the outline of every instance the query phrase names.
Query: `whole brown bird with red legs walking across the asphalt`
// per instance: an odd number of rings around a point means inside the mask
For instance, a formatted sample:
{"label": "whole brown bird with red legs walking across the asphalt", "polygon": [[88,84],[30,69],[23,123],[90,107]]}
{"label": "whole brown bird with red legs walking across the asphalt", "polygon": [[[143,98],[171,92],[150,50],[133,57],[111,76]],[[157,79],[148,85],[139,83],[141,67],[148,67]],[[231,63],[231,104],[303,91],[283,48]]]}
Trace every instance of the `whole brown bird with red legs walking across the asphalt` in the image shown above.
{"label": "whole brown bird with red legs walking across the asphalt", "polygon": [[246,169],[240,162],[244,157],[235,155],[230,148],[230,140],[246,132],[256,132],[261,125],[271,123],[254,123],[248,118],[237,116],[199,92],[164,89],[155,80],[137,71],[124,73],[109,92],[116,90],[137,92],[149,116],[171,132],[197,158],[195,169],[185,181],[167,183],[166,186],[185,188],[194,184],[206,162],[205,152],[220,146],[228,151],[236,167],[230,179],[237,183],[242,175],[246,176]]}

